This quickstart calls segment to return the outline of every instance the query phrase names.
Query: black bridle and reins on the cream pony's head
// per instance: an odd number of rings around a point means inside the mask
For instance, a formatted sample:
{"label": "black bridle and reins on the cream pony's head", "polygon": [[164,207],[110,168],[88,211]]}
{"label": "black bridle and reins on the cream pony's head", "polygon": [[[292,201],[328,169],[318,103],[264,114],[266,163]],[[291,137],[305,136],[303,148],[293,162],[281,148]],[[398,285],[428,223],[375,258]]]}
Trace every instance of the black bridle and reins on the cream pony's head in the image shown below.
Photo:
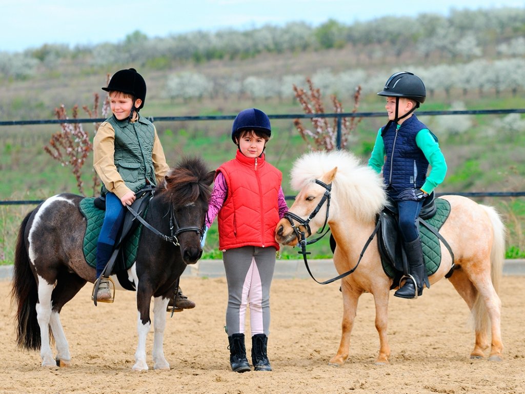
{"label": "black bridle and reins on the cream pony's head", "polygon": [[[345,273],[343,273],[341,275],[338,275],[338,276],[336,276],[334,278],[328,279],[328,281],[319,282],[312,275],[312,272],[310,271],[310,267],[308,265],[308,259],[307,259],[306,255],[307,254],[311,254],[311,253],[306,251],[306,245],[311,245],[314,242],[319,241],[323,236],[325,236],[328,233],[328,231],[330,231],[330,227],[328,227],[328,229],[324,232],[324,234],[320,235],[319,237],[317,237],[316,239],[314,239],[312,241],[306,241],[306,238],[307,238],[306,233],[304,231],[300,231],[299,230],[299,226],[303,226],[304,229],[306,229],[308,231],[308,236],[310,236],[312,234],[312,232],[310,230],[309,223],[313,219],[313,217],[317,215],[317,213],[321,209],[321,206],[324,204],[324,201],[327,201],[327,214],[326,214],[326,217],[324,218],[324,224],[323,224],[322,229],[320,231],[318,231],[317,233],[321,234],[324,231],[324,227],[328,223],[328,215],[329,215],[329,210],[330,210],[330,194],[332,192],[332,184],[331,183],[330,184],[326,184],[324,182],[321,182],[318,179],[315,180],[315,183],[317,183],[318,185],[323,186],[323,188],[326,189],[326,190],[324,191],[324,195],[322,196],[321,201],[319,201],[319,204],[317,204],[316,209],[314,209],[313,212],[308,216],[308,219],[303,220],[302,217],[300,217],[299,215],[296,215],[295,213],[290,212],[290,211],[285,213],[284,217],[288,220],[288,222],[290,222],[290,225],[291,225],[291,227],[293,229],[293,232],[295,233],[295,235],[297,237],[297,241],[299,241],[299,244],[301,245],[301,251],[297,252],[297,253],[302,254],[302,257],[303,257],[303,260],[304,260],[304,265],[306,266],[306,269],[307,269],[308,273],[310,274],[311,278],[314,281],[316,281],[317,283],[319,283],[320,285],[327,285],[329,283],[337,281],[338,279],[344,278],[347,275],[350,275],[351,273],[353,273],[357,269],[357,267],[359,266],[359,263],[361,262],[361,259],[363,258],[363,254],[364,254],[366,248],[368,247],[368,245],[370,245],[370,242],[372,242],[372,240],[373,240],[373,238],[375,236],[375,233],[377,233],[377,230],[379,230],[380,221],[377,221],[377,224],[375,226],[374,231],[372,232],[372,234],[370,235],[369,239],[364,244],[363,250],[361,251],[361,254],[359,255],[359,260],[355,264],[355,266],[352,269],[350,269],[350,271],[346,271]],[[295,223],[293,222],[294,219],[296,221],[300,222],[300,223],[298,225],[295,225]]]}

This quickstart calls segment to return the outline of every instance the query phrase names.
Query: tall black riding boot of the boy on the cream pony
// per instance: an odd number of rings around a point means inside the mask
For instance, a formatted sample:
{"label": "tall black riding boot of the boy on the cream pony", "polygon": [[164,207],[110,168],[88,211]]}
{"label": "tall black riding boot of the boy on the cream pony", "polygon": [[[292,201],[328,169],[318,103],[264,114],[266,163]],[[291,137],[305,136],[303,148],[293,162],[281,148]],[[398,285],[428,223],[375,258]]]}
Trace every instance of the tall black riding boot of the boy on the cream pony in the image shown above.
{"label": "tall black riding boot of the boy on the cream pony", "polygon": [[421,240],[418,238],[412,242],[405,242],[404,247],[408,260],[408,274],[412,277],[406,278],[405,284],[394,293],[394,296],[417,298],[423,294],[423,285],[426,283],[427,287],[429,286]]}

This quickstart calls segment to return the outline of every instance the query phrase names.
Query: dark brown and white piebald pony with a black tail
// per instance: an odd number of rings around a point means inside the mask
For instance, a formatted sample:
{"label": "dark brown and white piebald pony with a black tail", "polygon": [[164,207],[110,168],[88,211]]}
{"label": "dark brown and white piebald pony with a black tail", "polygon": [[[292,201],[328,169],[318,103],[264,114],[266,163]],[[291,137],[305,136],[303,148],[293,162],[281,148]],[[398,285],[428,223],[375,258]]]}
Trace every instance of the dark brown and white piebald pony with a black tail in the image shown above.
{"label": "dark brown and white piebald pony with a black tail", "polygon": [[[195,264],[202,255],[202,229],[213,177],[214,172],[201,159],[186,158],[166,175],[150,201],[144,219],[169,241],[144,228],[137,260],[128,269],[128,279],[137,289],[139,340],[134,370],[148,369],[145,343],[152,297],[153,368],[170,368],[163,350],[166,306],[186,265]],[[60,310],[87,282],[96,279],[95,268],[87,264],[82,250],[86,220],[79,210],[81,200],[75,194],[50,197],[25,217],[18,234],[12,291],[17,341],[20,347],[40,349],[43,366],[70,362]]]}

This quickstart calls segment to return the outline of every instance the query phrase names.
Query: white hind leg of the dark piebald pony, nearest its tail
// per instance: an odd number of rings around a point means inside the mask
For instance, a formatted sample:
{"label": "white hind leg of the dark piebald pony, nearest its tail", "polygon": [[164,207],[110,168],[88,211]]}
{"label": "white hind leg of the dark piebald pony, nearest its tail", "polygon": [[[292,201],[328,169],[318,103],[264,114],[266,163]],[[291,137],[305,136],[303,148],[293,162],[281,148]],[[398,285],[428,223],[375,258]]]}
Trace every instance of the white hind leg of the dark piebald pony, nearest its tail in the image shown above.
{"label": "white hind leg of the dark piebald pony, nearest its tail", "polygon": [[48,284],[43,278],[38,277],[38,302],[36,304],[36,314],[38,326],[40,327],[40,357],[42,358],[42,366],[44,367],[57,366],[49,342],[51,293],[53,293],[53,285]]}

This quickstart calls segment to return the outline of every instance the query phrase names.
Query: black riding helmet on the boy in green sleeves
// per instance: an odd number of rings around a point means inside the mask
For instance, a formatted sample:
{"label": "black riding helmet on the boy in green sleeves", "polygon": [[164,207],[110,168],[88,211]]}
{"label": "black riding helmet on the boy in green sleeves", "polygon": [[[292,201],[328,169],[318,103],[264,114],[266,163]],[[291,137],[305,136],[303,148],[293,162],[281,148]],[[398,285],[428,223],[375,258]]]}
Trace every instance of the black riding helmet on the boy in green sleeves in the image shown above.
{"label": "black riding helmet on the boy in green sleeves", "polygon": [[[388,78],[388,80],[386,81],[383,90],[378,92],[377,95],[396,98],[394,120],[397,122],[398,120],[410,115],[413,111],[416,110],[416,108],[419,108],[420,104],[423,104],[425,102],[426,89],[425,85],[423,84],[423,81],[418,76],[412,74],[412,72],[401,71],[392,74],[390,78]],[[412,110],[410,110],[409,112],[405,113],[405,115],[403,115],[402,117],[397,116],[400,97],[411,99],[416,102],[416,106],[412,108]]]}

